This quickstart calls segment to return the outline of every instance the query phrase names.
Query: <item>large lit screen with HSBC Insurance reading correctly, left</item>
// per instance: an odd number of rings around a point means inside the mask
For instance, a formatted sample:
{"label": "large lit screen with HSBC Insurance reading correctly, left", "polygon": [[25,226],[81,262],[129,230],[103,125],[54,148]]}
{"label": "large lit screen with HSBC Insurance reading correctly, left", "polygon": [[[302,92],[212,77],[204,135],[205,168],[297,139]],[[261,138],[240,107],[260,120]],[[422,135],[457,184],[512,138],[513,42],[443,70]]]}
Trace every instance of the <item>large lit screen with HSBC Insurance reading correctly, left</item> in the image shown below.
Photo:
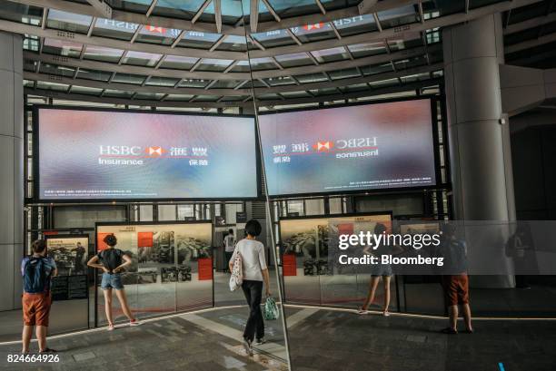
{"label": "large lit screen with HSBC Insurance reading correctly, left", "polygon": [[254,119],[39,109],[42,200],[258,195]]}

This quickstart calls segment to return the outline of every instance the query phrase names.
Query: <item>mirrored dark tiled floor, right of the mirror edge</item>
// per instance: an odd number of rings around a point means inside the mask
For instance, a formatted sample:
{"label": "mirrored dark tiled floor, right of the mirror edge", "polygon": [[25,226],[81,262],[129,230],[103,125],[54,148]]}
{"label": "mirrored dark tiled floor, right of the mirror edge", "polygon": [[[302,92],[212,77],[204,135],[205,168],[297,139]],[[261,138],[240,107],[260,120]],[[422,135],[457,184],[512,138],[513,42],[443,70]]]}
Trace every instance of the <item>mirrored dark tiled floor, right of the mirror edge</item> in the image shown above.
{"label": "mirrored dark tiled floor, right of the mirror edge", "polygon": [[288,327],[295,371],[556,369],[556,321],[481,320],[475,334],[444,335],[445,319],[319,309]]}

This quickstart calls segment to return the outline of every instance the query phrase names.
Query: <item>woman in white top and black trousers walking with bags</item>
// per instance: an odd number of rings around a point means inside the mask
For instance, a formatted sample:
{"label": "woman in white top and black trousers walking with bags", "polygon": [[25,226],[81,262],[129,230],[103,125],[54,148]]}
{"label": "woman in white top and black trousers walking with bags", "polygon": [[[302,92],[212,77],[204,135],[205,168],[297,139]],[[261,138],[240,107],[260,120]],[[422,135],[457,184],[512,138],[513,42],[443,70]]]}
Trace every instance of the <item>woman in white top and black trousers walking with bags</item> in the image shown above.
{"label": "woman in white top and black trousers walking with bags", "polygon": [[263,313],[261,312],[263,282],[266,288],[266,296],[271,296],[270,278],[264,259],[264,245],[256,240],[262,229],[261,223],[257,220],[249,220],[245,224],[246,237],[235,245],[229,263],[231,272],[233,272],[233,265],[236,262],[241,263],[243,268],[242,289],[250,309],[249,318],[243,331],[243,347],[250,356],[253,356],[252,344],[255,337],[255,345],[265,343]]}

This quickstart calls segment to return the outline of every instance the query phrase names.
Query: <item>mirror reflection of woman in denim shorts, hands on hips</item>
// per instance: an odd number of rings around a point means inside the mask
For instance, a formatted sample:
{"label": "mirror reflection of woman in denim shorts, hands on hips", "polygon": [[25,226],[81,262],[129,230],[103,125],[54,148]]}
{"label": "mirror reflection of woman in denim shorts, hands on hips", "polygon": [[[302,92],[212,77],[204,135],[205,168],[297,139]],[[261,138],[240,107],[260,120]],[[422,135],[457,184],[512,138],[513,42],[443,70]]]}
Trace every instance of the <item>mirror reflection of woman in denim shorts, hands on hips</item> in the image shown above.
{"label": "mirror reflection of woman in denim shorts, hands on hips", "polygon": [[[380,235],[386,232],[386,226],[382,223],[377,223],[374,226],[374,234]],[[369,253],[368,249],[365,249],[365,253]],[[387,254],[387,248],[381,244],[377,249],[372,252],[372,255],[377,256],[379,261],[381,261],[381,256]],[[367,293],[367,298],[363,302],[362,307],[359,309],[359,314],[367,314],[367,308],[374,300],[374,294],[376,294],[376,288],[378,283],[382,278],[382,284],[384,285],[384,307],[382,308],[382,315],[385,317],[390,316],[388,307],[390,306],[390,279],[392,278],[392,267],[390,264],[372,264],[371,266],[371,281],[369,282],[369,292]]]}

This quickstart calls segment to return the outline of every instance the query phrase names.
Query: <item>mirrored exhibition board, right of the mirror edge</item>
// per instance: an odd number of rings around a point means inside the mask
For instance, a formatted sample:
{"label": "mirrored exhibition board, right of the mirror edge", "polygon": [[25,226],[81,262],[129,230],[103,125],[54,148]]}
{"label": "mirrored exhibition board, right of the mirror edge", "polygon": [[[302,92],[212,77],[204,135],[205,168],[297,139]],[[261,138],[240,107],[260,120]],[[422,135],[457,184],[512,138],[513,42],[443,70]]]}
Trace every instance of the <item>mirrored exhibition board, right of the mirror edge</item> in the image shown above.
{"label": "mirrored exhibition board, right of the mirror edge", "polygon": [[[370,275],[333,264],[339,234],[392,228],[392,213],[295,217],[280,220],[284,298],[290,304],[353,307],[366,294]],[[395,302],[395,293],[392,303]]]}

